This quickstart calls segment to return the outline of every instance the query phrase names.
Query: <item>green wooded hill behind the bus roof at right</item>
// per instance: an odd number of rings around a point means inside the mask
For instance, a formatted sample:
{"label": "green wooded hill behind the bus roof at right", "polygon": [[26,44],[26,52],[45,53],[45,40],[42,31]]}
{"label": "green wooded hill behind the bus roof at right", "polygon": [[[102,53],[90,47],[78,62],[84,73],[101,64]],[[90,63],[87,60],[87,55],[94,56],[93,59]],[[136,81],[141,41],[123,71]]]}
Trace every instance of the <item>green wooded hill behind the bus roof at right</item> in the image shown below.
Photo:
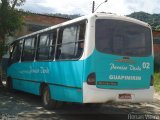
{"label": "green wooded hill behind the bus roof at right", "polygon": [[152,26],[153,30],[160,30],[160,14],[148,14],[145,12],[134,12],[128,17],[132,17],[144,22],[147,22]]}

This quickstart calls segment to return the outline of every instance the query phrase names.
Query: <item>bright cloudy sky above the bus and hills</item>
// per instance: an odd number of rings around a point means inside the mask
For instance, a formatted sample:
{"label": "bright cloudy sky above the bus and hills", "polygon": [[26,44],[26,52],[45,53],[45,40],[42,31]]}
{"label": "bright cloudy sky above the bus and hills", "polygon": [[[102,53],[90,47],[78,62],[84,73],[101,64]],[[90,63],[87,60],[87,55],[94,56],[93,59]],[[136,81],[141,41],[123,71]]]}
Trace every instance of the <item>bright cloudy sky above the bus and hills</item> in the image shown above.
{"label": "bright cloudy sky above the bus and hills", "polygon": [[[95,8],[105,0],[94,0]],[[61,13],[87,15],[92,12],[93,0],[26,0],[20,8],[34,13]],[[160,13],[160,0],[108,0],[96,12],[110,12],[128,15],[144,11]]]}

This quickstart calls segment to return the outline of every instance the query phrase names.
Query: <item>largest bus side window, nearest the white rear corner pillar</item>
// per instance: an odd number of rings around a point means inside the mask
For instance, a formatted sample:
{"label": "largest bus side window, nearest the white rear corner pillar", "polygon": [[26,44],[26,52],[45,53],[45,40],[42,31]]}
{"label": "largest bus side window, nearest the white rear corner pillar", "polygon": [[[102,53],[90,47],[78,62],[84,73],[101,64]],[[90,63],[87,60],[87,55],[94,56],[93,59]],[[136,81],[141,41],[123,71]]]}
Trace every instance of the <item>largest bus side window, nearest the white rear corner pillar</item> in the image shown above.
{"label": "largest bus side window, nearest the white rear corner pillar", "polygon": [[76,23],[75,25],[61,29],[59,32],[56,59],[78,59],[83,52],[84,33],[84,23]]}

